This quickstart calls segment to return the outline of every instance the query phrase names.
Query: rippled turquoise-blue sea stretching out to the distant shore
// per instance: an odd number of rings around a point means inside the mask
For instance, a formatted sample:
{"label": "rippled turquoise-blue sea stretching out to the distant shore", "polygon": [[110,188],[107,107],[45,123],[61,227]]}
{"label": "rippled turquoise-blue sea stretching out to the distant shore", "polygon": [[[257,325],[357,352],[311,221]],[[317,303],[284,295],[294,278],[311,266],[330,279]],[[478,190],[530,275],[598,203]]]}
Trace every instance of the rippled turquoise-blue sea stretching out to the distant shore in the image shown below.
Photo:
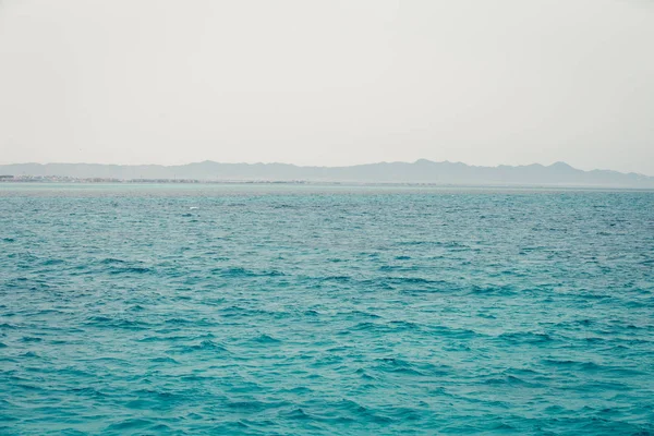
{"label": "rippled turquoise-blue sea stretching out to the distant shore", "polygon": [[654,192],[0,184],[0,434],[654,434]]}

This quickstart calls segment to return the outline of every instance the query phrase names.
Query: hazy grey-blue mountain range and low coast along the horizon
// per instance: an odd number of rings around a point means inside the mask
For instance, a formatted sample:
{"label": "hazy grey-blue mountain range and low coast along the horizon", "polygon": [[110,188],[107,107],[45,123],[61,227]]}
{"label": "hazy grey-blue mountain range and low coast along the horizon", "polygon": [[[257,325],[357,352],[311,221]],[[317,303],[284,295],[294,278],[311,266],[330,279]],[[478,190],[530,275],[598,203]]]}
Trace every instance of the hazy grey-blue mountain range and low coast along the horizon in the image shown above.
{"label": "hazy grey-blue mountain range and low coast along the horizon", "polygon": [[609,170],[582,171],[565,162],[550,166],[475,167],[461,162],[379,162],[351,167],[299,167],[289,164],[204,162],[159,165],[15,164],[0,175],[48,175],[80,179],[195,179],[203,181],[308,181],[356,183],[435,183],[463,185],[565,185],[654,187],[654,177]]}

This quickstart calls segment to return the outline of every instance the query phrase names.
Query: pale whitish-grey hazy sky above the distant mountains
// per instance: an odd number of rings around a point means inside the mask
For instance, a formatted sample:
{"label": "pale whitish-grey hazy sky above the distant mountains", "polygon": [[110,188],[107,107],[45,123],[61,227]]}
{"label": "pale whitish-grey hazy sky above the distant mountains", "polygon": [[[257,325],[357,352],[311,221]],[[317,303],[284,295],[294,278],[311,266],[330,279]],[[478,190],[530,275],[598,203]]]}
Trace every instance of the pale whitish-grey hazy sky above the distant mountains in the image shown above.
{"label": "pale whitish-grey hazy sky above the distant mountains", "polygon": [[0,0],[0,164],[654,175],[650,0]]}

